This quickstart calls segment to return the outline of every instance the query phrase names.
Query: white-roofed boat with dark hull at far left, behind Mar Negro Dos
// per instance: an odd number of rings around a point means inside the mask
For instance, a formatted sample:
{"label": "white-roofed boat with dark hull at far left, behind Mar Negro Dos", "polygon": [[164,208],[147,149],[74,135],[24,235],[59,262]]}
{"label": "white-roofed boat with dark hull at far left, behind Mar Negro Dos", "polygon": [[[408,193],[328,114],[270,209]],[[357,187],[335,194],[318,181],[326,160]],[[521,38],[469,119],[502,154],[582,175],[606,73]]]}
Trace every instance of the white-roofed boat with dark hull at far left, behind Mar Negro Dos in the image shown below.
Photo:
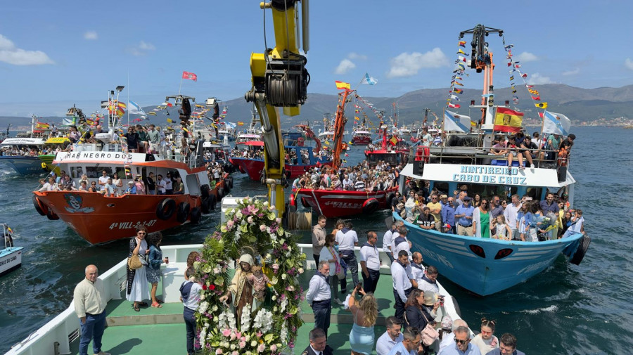
{"label": "white-roofed boat with dark hull at far left, behind Mar Negro Dos", "polygon": [[42,138],[6,138],[0,143],[0,149],[13,150],[15,148],[18,152],[34,150],[37,153],[34,155],[2,155],[0,162],[5,162],[20,175],[44,173],[45,170],[41,167],[41,160],[39,160],[39,151],[44,146],[44,142],[45,140]]}

